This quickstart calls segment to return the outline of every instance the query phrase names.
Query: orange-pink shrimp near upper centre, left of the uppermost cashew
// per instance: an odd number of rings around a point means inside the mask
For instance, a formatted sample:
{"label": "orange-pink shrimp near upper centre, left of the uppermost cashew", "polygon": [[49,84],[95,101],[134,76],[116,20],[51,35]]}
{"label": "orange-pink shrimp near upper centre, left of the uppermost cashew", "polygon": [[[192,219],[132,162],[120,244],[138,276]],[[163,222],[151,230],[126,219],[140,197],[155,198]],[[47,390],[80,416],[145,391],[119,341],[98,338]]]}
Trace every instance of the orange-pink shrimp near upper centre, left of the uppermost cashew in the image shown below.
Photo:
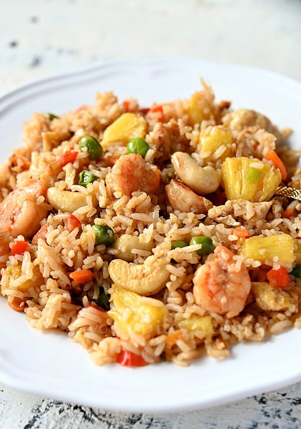
{"label": "orange-pink shrimp near upper centre, left of the uppermost cashew", "polygon": [[129,153],[117,159],[106,175],[105,183],[112,193],[120,191],[128,196],[137,190],[156,193],[160,184],[160,170],[145,162],[142,156]]}

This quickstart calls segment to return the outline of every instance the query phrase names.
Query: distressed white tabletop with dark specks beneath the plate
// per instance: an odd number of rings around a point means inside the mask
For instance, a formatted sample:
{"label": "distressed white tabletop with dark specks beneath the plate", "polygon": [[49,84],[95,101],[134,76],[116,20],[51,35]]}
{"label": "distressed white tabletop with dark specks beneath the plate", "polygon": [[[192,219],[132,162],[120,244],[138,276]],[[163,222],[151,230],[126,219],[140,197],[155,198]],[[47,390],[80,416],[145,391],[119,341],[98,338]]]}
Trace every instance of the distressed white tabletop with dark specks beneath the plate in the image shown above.
{"label": "distressed white tabletop with dark specks beneath the plate", "polygon": [[[190,56],[301,79],[300,47],[300,0],[0,0],[0,91],[108,58]],[[297,429],[301,384],[172,415],[113,413],[0,385],[0,427]]]}

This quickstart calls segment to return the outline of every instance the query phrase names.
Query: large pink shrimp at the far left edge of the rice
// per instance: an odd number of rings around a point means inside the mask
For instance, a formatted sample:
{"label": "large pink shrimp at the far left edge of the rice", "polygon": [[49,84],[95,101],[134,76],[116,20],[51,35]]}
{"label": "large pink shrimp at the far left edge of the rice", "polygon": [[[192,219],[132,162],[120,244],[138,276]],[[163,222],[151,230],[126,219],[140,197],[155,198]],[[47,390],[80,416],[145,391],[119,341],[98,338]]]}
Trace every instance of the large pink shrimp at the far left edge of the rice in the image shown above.
{"label": "large pink shrimp at the far left edge of the rice", "polygon": [[37,204],[40,195],[46,192],[41,181],[15,189],[0,204],[0,233],[32,238],[40,228],[40,222],[48,210]]}

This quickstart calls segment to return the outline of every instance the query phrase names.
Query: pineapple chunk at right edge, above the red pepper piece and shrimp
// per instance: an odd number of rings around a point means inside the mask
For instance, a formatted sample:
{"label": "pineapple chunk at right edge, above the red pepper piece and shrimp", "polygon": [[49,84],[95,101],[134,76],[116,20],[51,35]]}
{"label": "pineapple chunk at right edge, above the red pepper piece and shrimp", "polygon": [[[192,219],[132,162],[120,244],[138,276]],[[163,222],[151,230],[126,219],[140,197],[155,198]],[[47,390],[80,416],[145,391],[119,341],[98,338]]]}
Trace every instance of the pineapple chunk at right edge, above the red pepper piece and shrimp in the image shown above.
{"label": "pineapple chunk at right edge, above the red pepper piece and shrimp", "polygon": [[244,258],[252,258],[261,263],[272,265],[273,258],[278,257],[277,263],[290,266],[294,261],[293,241],[287,234],[270,237],[250,237],[240,248]]}

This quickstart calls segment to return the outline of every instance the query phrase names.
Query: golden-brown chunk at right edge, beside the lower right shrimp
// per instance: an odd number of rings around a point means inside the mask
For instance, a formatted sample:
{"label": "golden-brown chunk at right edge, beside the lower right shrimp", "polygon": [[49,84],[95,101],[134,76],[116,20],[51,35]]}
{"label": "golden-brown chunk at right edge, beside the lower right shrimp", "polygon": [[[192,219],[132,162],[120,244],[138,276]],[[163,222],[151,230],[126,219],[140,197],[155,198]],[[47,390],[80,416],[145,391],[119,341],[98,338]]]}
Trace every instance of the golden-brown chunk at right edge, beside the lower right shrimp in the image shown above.
{"label": "golden-brown chunk at right edge, beside the lower right shrimp", "polygon": [[296,286],[283,290],[265,282],[254,282],[252,283],[252,292],[255,295],[256,304],[262,310],[285,311],[291,305],[298,309],[300,292]]}

